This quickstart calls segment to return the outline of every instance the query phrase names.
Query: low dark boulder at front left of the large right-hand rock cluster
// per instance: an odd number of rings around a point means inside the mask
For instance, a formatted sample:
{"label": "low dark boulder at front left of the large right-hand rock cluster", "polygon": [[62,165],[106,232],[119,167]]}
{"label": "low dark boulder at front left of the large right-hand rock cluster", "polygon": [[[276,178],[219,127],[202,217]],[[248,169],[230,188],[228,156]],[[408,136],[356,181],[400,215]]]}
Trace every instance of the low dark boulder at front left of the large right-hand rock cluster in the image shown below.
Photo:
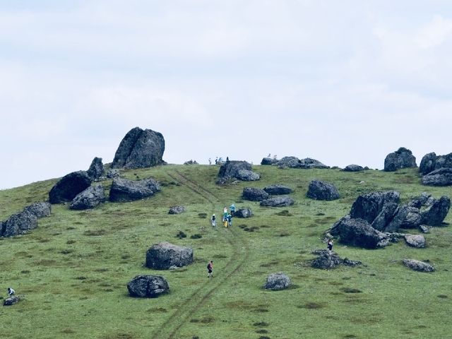
{"label": "low dark boulder at front left of the large right-hand rock cluster", "polygon": [[335,223],[330,231],[342,244],[377,249],[388,244],[388,235],[375,230],[364,219],[352,219],[349,215]]}

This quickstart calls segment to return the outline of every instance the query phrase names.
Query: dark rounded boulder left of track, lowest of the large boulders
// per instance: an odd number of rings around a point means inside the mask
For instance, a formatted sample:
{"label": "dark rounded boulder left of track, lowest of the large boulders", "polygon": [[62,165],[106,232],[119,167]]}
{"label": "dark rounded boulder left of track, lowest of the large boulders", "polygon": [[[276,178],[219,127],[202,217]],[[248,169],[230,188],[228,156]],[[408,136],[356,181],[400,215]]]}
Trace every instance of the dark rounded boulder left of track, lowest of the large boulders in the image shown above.
{"label": "dark rounded boulder left of track, lowest of the large boulders", "polygon": [[161,275],[137,275],[127,284],[131,297],[155,298],[169,292],[169,285]]}

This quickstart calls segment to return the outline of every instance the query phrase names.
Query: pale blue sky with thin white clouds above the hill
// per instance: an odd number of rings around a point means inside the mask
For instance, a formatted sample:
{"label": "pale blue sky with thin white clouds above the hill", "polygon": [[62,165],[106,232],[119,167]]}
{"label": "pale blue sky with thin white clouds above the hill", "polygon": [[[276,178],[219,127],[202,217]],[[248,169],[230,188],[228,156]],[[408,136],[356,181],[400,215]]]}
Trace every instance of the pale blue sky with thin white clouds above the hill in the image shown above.
{"label": "pale blue sky with thin white clouds above the hill", "polygon": [[0,0],[0,189],[112,162],[452,152],[449,0]]}

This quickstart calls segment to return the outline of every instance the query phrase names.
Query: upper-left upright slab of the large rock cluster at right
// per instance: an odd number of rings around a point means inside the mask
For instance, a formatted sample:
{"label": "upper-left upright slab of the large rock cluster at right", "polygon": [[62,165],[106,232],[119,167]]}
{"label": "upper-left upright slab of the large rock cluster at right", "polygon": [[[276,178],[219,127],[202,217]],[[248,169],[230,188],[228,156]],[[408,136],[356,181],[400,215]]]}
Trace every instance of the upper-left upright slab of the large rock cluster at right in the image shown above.
{"label": "upper-left upright slab of the large rock cluster at right", "polygon": [[396,191],[371,192],[358,196],[350,210],[350,218],[361,218],[367,222],[374,222],[375,218],[388,203],[398,203],[400,194]]}

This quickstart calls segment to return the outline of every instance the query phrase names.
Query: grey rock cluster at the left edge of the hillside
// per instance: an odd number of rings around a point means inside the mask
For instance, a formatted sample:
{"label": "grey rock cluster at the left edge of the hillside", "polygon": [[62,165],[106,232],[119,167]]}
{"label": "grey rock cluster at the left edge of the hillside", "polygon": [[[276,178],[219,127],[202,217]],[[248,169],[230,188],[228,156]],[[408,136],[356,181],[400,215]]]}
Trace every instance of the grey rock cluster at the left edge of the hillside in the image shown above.
{"label": "grey rock cluster at the left edge of the hillside", "polygon": [[26,206],[22,212],[11,215],[5,221],[0,221],[0,237],[14,237],[37,227],[39,218],[52,213],[50,203],[33,203]]}

